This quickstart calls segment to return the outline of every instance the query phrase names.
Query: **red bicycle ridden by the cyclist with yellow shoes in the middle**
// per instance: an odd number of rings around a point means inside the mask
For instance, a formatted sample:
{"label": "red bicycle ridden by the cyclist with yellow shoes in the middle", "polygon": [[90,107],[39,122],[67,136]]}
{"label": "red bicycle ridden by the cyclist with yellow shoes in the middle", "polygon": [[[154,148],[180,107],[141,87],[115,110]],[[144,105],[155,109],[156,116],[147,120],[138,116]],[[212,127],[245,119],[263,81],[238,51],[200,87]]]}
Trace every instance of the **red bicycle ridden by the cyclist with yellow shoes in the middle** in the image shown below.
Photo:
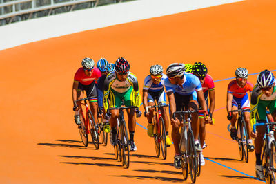
{"label": "red bicycle ridden by the cyclist with yellow shoes in the middle", "polygon": [[164,160],[167,158],[167,145],[166,145],[166,129],[164,124],[164,119],[161,116],[161,107],[168,107],[168,104],[166,105],[152,105],[146,107],[146,113],[148,113],[149,108],[155,108],[155,116],[152,118],[152,124],[153,124],[153,136],[155,139],[155,151],[157,154],[157,157],[160,156],[160,146],[162,151],[162,156]]}

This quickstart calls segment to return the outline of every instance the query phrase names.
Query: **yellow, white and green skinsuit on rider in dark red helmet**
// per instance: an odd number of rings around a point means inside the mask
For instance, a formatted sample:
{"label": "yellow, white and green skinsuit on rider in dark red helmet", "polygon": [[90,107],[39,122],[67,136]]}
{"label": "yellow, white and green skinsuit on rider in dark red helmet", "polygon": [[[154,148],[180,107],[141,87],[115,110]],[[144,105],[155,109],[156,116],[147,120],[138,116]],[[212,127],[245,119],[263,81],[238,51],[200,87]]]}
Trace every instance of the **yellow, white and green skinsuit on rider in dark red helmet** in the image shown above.
{"label": "yellow, white and green skinsuit on rider in dark red helmet", "polygon": [[[110,100],[108,104],[108,98]],[[126,106],[140,107],[141,97],[137,77],[133,73],[128,73],[126,81],[118,80],[116,73],[108,74],[103,84],[103,107],[107,111],[108,107],[121,107],[121,100]]]}

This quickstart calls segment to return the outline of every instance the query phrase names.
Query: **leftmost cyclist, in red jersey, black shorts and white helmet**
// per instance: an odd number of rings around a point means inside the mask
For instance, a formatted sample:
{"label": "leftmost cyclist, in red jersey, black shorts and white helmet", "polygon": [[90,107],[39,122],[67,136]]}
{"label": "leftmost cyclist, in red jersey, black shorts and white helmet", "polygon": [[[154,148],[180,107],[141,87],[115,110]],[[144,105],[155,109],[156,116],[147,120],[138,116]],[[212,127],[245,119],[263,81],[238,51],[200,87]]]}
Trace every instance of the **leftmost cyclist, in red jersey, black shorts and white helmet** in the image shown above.
{"label": "leftmost cyclist, in red jersey, black shorts and white helmet", "polygon": [[[94,68],[94,61],[88,57],[84,58],[81,62],[82,67],[77,70],[74,77],[72,87],[72,99],[73,102],[77,99],[83,98],[83,91],[86,91],[86,96],[89,97],[89,106],[92,111],[92,115],[97,120],[97,88],[96,82],[101,77],[101,72]],[[81,102],[77,102],[77,108],[74,109],[75,122],[77,125],[81,124],[79,119],[79,110],[81,108]]]}

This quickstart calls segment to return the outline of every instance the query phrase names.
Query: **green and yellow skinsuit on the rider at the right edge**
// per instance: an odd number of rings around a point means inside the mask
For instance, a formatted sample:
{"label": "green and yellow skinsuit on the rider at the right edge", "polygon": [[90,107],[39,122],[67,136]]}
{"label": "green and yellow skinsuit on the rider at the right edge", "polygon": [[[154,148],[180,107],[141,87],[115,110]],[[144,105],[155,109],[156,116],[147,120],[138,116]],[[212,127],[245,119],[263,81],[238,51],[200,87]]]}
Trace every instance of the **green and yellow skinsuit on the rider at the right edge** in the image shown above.
{"label": "green and yellow skinsuit on the rider at the right edge", "polygon": [[267,97],[262,90],[257,86],[254,86],[251,95],[251,125],[253,126],[256,120],[266,120],[266,108],[270,113],[276,110],[276,82],[274,81],[273,93]]}

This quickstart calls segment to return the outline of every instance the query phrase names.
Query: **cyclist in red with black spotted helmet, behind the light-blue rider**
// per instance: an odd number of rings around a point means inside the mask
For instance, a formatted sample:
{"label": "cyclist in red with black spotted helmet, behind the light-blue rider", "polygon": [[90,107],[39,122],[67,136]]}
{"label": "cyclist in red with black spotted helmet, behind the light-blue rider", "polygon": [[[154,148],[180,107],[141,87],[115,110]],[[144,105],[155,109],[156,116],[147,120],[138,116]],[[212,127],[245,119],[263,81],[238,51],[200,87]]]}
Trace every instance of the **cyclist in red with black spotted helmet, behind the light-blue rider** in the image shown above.
{"label": "cyclist in red with black spotted helmet, behind the light-blue rider", "polygon": [[[215,84],[213,82],[213,79],[210,75],[207,74],[208,70],[205,64],[202,64],[201,62],[196,62],[193,65],[193,75],[197,76],[199,78],[199,81],[202,86],[202,91],[204,93],[204,99],[207,105],[208,109],[208,122],[210,124],[213,124],[212,122],[212,114],[215,109]],[[210,107],[208,107],[208,95],[210,98]],[[197,98],[197,102],[199,102],[199,109],[202,109],[199,99]],[[205,130],[205,120],[204,116],[199,114],[199,138],[200,138],[200,145],[204,146],[206,137],[206,130]],[[205,145],[206,146],[206,145]],[[201,165],[205,165],[204,156],[201,153]]]}

